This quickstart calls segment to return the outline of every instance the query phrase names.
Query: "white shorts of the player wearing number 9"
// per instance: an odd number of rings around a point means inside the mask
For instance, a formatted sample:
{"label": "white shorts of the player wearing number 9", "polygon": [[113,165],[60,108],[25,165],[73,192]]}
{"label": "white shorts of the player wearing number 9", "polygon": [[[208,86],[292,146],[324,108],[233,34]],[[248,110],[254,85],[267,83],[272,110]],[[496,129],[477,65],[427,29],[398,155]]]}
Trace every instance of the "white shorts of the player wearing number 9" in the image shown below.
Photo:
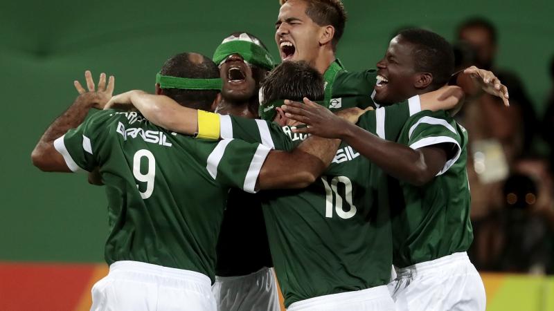
{"label": "white shorts of the player wearing number 9", "polygon": [[91,311],[215,311],[208,276],[138,261],[117,261],[92,288]]}

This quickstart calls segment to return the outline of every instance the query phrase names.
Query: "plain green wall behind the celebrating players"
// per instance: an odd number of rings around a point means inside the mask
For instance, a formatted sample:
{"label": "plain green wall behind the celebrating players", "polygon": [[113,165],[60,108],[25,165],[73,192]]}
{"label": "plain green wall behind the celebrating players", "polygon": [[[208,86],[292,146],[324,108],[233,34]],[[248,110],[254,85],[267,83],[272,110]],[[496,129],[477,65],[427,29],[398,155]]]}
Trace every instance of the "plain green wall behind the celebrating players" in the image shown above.
{"label": "plain green wall behind the celebrating players", "polygon": [[[2,1],[0,3],[0,261],[102,261],[106,200],[86,176],[42,173],[30,151],[76,95],[85,69],[116,75],[116,93],[151,91],[164,60],[211,55],[230,32],[273,42],[277,0]],[[425,26],[452,39],[473,15],[499,28],[497,64],[521,75],[536,106],[551,82],[554,1],[345,0],[350,14],[339,57],[352,70],[375,66],[393,30]]]}

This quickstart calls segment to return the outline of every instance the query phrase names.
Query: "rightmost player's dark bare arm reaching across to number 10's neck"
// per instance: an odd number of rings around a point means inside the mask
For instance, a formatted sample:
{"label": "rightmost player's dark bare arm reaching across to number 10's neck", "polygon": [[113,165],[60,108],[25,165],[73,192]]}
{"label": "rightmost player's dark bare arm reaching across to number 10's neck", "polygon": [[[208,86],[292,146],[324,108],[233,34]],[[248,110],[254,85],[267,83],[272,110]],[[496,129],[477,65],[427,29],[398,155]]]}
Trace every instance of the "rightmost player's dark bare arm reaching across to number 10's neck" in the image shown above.
{"label": "rightmost player's dark bare arm reaching across to number 10's neck", "polygon": [[425,185],[434,178],[447,161],[446,150],[452,147],[449,144],[441,144],[411,149],[345,122],[325,107],[310,100],[304,99],[305,104],[289,101],[286,103],[287,106],[283,106],[283,110],[287,111],[287,117],[309,125],[305,129],[296,129],[296,132],[339,138],[391,176],[413,185]]}

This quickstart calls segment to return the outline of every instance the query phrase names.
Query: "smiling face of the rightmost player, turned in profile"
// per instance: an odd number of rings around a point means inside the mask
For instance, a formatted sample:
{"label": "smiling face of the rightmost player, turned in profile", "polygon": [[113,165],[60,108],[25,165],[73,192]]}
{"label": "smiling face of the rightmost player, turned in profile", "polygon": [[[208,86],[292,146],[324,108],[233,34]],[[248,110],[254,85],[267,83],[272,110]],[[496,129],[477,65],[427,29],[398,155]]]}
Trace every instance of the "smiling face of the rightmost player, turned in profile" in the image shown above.
{"label": "smiling face of the rightmost player, turned in profile", "polygon": [[413,45],[402,37],[396,36],[391,40],[377,68],[375,102],[393,104],[418,93],[418,88],[415,88],[418,73],[415,70]]}

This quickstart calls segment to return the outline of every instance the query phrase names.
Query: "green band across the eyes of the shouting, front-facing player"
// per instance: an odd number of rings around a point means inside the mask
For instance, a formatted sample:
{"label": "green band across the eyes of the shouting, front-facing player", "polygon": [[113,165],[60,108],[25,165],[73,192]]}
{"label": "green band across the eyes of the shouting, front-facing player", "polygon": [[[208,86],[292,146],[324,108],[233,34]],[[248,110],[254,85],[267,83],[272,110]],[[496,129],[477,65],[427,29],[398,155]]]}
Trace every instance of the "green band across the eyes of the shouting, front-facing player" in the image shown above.
{"label": "green band across the eyes of the shouting, front-facing player", "polygon": [[271,57],[271,54],[269,54],[265,48],[244,40],[233,40],[218,46],[215,49],[215,53],[213,53],[213,62],[219,65],[229,57],[229,55],[233,54],[242,56],[242,59],[249,62],[249,64],[267,70],[271,70],[275,67],[273,57]]}

